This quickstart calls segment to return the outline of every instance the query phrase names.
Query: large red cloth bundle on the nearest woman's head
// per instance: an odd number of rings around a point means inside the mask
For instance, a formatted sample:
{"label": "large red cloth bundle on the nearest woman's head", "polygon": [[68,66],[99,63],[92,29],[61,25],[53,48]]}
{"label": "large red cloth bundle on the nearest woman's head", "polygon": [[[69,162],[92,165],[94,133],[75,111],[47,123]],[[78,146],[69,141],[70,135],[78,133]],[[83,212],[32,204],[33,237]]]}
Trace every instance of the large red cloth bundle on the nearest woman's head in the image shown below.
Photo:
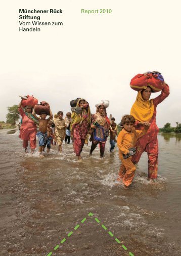
{"label": "large red cloth bundle on the nearest woman's head", "polygon": [[157,93],[163,89],[163,85],[164,78],[158,71],[135,75],[130,81],[130,87],[135,91],[146,89],[149,86],[153,93]]}

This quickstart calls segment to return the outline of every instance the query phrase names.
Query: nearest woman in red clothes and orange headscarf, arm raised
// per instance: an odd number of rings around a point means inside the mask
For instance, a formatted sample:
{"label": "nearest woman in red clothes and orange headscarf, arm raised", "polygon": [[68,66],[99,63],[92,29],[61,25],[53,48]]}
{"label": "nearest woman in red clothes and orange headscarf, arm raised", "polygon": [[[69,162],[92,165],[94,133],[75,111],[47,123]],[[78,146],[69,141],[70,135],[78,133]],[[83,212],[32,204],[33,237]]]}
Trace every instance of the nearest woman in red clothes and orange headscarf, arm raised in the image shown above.
{"label": "nearest woman in red clothes and orange headscarf, arm raised", "polygon": [[166,83],[163,85],[161,95],[151,99],[152,89],[148,86],[147,89],[138,92],[136,101],[134,102],[130,114],[134,116],[136,123],[135,129],[143,123],[149,122],[150,127],[146,135],[141,137],[135,146],[137,152],[132,156],[132,162],[138,163],[143,152],[148,154],[148,180],[157,178],[158,170],[158,140],[157,134],[159,129],[156,124],[156,107],[169,95],[169,87]]}

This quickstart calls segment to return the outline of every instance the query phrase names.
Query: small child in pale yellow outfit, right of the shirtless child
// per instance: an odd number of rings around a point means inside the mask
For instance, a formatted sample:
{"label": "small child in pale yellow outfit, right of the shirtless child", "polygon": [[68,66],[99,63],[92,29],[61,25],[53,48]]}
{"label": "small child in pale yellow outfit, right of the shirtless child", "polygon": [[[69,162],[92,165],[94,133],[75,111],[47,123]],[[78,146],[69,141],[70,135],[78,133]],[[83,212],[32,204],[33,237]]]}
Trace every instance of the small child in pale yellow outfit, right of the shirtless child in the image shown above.
{"label": "small child in pale yellow outfit, right of the shirtless child", "polygon": [[61,153],[62,143],[65,138],[65,129],[67,125],[65,124],[65,120],[63,119],[64,113],[62,111],[59,111],[57,115],[58,115],[58,118],[55,121],[55,138],[59,146],[59,152]]}

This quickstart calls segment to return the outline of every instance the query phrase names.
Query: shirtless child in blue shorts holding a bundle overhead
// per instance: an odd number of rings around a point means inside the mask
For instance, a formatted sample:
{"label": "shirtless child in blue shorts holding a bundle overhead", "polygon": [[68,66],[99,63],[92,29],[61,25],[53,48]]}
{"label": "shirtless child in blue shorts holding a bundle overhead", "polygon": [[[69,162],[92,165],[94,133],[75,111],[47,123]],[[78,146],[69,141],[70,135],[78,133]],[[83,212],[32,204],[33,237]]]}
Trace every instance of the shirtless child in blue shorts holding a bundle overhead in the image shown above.
{"label": "shirtless child in blue shorts holding a bundle overhead", "polygon": [[39,141],[39,156],[42,157],[43,156],[42,151],[44,150],[48,142],[48,136],[47,136],[48,122],[52,119],[53,115],[52,115],[52,111],[50,110],[50,116],[48,119],[46,119],[47,113],[42,111],[39,118],[36,116],[34,109],[32,114],[39,122],[39,131],[37,132],[36,135],[38,136],[38,141]]}

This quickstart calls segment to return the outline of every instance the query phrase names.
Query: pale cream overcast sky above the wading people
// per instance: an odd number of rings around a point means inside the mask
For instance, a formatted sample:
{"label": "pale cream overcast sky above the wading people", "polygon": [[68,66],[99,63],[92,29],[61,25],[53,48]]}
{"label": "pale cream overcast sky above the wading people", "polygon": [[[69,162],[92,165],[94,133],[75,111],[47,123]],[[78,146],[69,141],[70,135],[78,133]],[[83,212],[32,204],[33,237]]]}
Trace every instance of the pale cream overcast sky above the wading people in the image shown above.
{"label": "pale cream overcast sky above the wading people", "polygon": [[[157,107],[157,125],[181,123],[179,0],[10,0],[3,7],[0,120],[6,121],[8,106],[20,102],[18,95],[29,94],[64,115],[77,97],[89,102],[92,113],[98,102],[109,100],[108,116],[120,122],[137,97],[129,86],[131,78],[158,70],[170,95]],[[61,15],[40,15],[40,21],[60,21],[63,26],[19,32],[23,8],[62,9]],[[81,9],[112,13],[88,15]]]}

